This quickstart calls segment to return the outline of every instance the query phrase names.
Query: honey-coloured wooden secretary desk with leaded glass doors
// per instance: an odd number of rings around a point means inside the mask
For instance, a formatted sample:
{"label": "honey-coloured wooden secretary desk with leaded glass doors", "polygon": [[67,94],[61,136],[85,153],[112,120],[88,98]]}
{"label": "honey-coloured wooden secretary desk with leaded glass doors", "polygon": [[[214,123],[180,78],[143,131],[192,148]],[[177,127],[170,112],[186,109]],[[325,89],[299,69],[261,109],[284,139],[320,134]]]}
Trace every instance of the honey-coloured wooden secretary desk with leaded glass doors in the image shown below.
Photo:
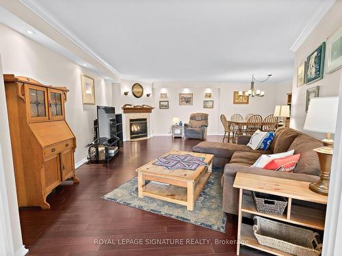
{"label": "honey-coloured wooden secretary desk with leaded glass doors", "polygon": [[49,209],[47,195],[75,176],[76,138],[65,121],[66,87],[4,74],[19,207]]}

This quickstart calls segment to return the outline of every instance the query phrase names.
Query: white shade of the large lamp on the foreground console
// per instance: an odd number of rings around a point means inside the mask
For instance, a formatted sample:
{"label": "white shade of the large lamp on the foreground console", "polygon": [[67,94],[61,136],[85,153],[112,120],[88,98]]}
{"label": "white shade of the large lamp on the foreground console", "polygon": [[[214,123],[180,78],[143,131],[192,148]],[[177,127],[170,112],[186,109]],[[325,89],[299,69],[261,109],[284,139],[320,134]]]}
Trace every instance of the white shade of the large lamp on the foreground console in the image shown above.
{"label": "white shade of the large lamp on the foreground console", "polygon": [[319,97],[310,100],[304,130],[335,133],[339,97]]}

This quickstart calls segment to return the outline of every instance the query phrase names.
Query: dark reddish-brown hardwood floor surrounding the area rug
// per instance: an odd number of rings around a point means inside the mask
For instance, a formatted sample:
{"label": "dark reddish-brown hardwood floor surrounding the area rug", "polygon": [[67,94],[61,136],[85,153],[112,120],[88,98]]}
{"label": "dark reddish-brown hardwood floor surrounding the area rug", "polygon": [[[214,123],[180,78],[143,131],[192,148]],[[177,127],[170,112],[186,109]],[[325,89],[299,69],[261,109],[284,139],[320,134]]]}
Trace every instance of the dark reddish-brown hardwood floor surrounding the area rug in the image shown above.
{"label": "dark reddish-brown hardwood floor surrounding the area rug", "polygon": [[[209,136],[209,141],[222,137]],[[146,141],[125,142],[122,152],[109,167],[83,165],[76,170],[80,184],[65,182],[49,195],[51,210],[20,210],[23,242],[29,255],[105,256],[105,255],[236,255],[235,245],[215,244],[236,240],[237,220],[228,215],[226,233],[212,231],[172,218],[129,208],[100,199],[131,180],[135,169],[162,153],[192,150],[198,140],[153,137]],[[81,146],[81,145],[80,145]],[[118,239],[211,239],[202,245],[100,245],[95,240]],[[200,240],[196,241],[200,241]],[[265,255],[242,248],[240,255]]]}

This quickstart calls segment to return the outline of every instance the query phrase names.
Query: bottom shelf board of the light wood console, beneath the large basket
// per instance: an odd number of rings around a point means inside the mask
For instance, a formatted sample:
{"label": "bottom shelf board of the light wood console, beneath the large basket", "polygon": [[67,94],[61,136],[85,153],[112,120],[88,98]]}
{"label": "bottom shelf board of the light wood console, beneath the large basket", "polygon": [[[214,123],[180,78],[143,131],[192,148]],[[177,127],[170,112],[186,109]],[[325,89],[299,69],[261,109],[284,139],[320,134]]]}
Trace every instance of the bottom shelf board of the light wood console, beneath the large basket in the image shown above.
{"label": "bottom shelf board of the light wood console, beneath the large basket", "polygon": [[255,238],[254,236],[253,226],[248,225],[248,224],[241,224],[241,241],[246,241],[244,246],[258,249],[266,253],[272,253],[273,255],[278,255],[278,256],[290,256],[291,255],[289,253],[285,253],[283,251],[277,250],[276,248],[271,248],[271,247],[259,244],[257,238]]}

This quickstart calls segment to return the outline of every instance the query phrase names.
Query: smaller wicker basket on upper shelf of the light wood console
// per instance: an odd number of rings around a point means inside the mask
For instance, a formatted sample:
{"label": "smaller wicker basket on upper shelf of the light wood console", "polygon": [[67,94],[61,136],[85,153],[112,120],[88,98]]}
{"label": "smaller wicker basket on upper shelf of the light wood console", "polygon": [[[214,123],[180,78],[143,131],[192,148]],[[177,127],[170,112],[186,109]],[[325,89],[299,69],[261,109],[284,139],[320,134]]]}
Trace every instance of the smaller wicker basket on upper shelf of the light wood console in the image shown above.
{"label": "smaller wicker basket on upper shelf of the light wood console", "polygon": [[269,195],[252,191],[254,203],[258,212],[266,214],[282,215],[287,206],[285,197]]}

